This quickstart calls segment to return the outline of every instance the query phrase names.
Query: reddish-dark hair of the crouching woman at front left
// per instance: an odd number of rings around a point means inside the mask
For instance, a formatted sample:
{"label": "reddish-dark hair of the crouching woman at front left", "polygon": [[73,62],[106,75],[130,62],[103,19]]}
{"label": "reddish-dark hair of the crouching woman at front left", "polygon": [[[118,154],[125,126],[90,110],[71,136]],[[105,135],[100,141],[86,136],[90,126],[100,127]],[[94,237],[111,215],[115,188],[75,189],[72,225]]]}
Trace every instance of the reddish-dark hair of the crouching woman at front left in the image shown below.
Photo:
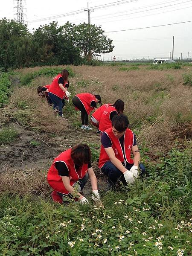
{"label": "reddish-dark hair of the crouching woman at front left", "polygon": [[87,144],[78,144],[71,149],[71,158],[77,166],[89,163],[91,159],[91,151]]}

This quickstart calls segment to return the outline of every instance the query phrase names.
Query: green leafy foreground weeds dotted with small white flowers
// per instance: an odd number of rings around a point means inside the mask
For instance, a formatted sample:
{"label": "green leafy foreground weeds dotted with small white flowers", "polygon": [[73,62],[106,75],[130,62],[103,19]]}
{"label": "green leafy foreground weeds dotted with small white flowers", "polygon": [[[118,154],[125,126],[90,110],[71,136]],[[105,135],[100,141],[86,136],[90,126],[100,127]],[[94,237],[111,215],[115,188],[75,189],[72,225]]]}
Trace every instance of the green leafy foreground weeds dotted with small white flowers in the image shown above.
{"label": "green leafy foreground weeds dotted with small white flowers", "polygon": [[[68,206],[1,195],[0,253],[5,256],[191,254],[190,151],[173,148],[148,176],[120,192],[101,193],[103,206]],[[137,251],[137,253],[136,253]]]}

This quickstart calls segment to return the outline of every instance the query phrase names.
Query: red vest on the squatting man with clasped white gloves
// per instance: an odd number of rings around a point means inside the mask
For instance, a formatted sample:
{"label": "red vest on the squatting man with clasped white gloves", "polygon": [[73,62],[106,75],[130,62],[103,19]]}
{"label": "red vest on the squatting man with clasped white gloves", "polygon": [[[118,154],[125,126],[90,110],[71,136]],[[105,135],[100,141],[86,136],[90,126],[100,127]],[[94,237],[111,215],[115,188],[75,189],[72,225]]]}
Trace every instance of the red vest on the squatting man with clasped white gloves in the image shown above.
{"label": "red vest on the squatting man with clasped white gloves", "polygon": [[[122,147],[119,142],[119,139],[113,134],[112,127],[104,131],[108,137],[111,140],[112,148],[115,153],[115,156],[117,159],[119,159],[121,162],[127,161],[128,163],[133,163],[133,160],[131,159],[131,148],[134,144],[134,134],[131,130],[126,129],[124,134],[124,151],[125,151],[125,157],[123,155]],[[109,161],[108,154],[105,151],[105,148],[103,145],[101,145],[100,150],[100,157],[99,157],[99,168],[102,168],[102,166]]]}

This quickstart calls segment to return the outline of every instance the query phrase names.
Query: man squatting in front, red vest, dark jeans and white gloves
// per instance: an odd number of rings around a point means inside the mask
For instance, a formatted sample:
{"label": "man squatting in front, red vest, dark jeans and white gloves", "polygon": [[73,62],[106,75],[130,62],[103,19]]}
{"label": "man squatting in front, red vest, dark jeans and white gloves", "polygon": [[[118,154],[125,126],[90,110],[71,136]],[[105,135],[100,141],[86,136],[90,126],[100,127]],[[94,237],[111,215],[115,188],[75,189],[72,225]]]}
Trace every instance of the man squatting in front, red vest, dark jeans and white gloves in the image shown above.
{"label": "man squatting in front, red vest, dark jeans and white gloves", "polygon": [[124,185],[133,184],[139,175],[138,166],[142,174],[145,173],[145,167],[140,164],[140,152],[135,135],[128,129],[128,125],[127,116],[114,116],[112,127],[101,134],[99,168],[108,176],[108,189],[115,189],[117,180],[122,181]]}

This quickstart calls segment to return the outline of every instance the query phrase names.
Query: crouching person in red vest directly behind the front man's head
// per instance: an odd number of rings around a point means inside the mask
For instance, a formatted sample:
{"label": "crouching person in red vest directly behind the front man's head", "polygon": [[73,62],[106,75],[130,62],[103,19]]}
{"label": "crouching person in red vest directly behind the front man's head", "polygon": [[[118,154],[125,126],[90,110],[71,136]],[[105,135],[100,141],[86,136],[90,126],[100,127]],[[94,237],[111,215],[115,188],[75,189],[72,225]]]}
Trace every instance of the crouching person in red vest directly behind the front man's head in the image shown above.
{"label": "crouching person in red vest directly behind the front man's head", "polygon": [[122,114],[123,111],[124,111],[124,102],[121,99],[117,99],[113,105],[109,106],[103,111],[100,122],[99,122],[99,131],[103,132],[106,129],[110,128],[113,116]]}

